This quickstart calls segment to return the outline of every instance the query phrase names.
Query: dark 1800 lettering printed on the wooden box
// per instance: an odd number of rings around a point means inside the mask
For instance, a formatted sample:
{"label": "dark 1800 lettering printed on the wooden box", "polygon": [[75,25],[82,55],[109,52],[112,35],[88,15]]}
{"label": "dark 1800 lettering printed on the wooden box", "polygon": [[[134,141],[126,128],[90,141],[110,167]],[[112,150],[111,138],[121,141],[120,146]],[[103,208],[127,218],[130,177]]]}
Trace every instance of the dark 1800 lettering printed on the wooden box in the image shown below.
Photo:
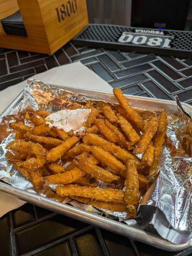
{"label": "dark 1800 lettering printed on the wooden box", "polygon": [[70,17],[70,15],[77,12],[77,0],[68,0],[67,3],[61,4],[56,8],[56,13],[58,16],[58,22],[65,20],[65,18]]}

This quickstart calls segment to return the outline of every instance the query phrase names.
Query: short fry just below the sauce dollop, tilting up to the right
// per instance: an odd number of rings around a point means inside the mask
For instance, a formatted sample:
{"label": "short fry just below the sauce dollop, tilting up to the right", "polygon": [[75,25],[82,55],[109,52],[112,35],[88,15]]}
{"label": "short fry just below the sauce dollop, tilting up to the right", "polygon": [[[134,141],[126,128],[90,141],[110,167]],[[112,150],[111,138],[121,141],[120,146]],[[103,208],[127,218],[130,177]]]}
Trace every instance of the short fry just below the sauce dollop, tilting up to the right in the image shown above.
{"label": "short fry just below the sauce dollop, tilting up to the right", "polygon": [[[54,139],[56,140],[56,139]],[[52,148],[48,153],[47,153],[47,161],[56,161],[61,158],[66,152],[72,148],[76,143],[79,141],[79,138],[76,136],[73,136],[71,138],[68,138],[66,141],[61,143],[55,148]]]}

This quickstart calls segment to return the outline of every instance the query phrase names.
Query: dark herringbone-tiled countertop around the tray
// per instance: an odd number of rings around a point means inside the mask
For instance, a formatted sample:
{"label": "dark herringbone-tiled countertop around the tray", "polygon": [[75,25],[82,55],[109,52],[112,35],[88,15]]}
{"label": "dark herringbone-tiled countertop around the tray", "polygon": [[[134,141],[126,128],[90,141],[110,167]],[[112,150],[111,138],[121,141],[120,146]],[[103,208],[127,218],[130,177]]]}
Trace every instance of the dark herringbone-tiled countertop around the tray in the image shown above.
{"label": "dark herringbone-tiled countertop around the tray", "polygon": [[[124,93],[192,104],[192,60],[76,48],[67,44],[53,56],[0,49],[0,90],[39,72],[79,61]],[[0,218],[0,256],[6,255],[191,255],[164,252],[101,228],[26,204]]]}

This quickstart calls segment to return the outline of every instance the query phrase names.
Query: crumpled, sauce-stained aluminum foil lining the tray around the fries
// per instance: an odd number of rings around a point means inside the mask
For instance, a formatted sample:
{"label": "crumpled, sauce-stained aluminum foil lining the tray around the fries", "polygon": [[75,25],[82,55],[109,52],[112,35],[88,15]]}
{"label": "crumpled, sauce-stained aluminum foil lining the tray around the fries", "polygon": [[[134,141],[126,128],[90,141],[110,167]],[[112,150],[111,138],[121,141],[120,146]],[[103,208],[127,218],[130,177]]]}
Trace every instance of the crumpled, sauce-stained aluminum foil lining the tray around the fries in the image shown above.
{"label": "crumpled, sauce-stained aluminum foil lining the tray around the fries", "polygon": [[[10,115],[26,109],[58,111],[68,106],[76,107],[79,102],[86,100],[90,99],[40,81],[29,80],[23,100],[10,111]],[[186,243],[192,237],[192,158],[189,156],[192,152],[191,123],[191,119],[182,113],[168,113],[167,138],[159,164],[159,176],[145,204],[140,205],[136,217],[140,227],[153,225],[161,237],[176,244]],[[0,179],[19,189],[37,193],[33,185],[13,170],[12,165],[6,161],[6,145],[14,136],[10,133],[0,145]],[[40,195],[46,196],[44,192],[41,191]],[[70,204],[81,209],[83,207],[86,211],[105,212],[106,216],[118,217],[120,221],[125,218],[124,212],[100,211],[91,205],[79,204],[76,201],[71,201]],[[125,223],[134,225],[136,221],[128,220]]]}

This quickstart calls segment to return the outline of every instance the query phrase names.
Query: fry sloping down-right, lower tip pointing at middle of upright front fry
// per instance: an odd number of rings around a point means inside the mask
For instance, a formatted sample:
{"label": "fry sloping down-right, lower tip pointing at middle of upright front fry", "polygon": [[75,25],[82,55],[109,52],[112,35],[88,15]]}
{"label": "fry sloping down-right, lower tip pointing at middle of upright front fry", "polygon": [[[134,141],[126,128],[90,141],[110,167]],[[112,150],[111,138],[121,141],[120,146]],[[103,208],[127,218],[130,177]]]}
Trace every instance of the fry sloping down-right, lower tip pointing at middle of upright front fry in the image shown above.
{"label": "fry sloping down-right, lower tip pointing at middle of upright front fry", "polygon": [[120,180],[120,177],[116,176],[115,174],[104,170],[103,168],[90,163],[89,161],[86,160],[80,160],[77,158],[75,161],[76,166],[81,169],[83,172],[86,172],[90,175],[92,175],[93,178],[102,180],[104,182],[109,182],[113,183],[118,180]]}

